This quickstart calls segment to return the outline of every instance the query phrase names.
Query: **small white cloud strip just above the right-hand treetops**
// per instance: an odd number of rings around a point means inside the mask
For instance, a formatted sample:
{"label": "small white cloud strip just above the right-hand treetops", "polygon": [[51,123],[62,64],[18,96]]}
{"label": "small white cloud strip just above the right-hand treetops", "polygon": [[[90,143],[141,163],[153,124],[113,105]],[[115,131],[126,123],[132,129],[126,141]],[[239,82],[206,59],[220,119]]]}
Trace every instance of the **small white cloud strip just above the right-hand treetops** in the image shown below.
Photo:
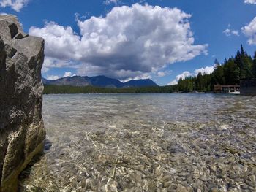
{"label": "small white cloud strip just above the right-hand treetops", "polygon": [[178,74],[175,78],[175,80],[172,80],[169,82],[167,85],[176,85],[178,84],[178,80],[184,80],[186,77],[191,77],[191,76],[197,76],[197,74],[211,74],[214,72],[214,66],[206,66],[205,68],[200,68],[200,69],[195,69],[194,73],[191,72],[183,72],[181,74]]}

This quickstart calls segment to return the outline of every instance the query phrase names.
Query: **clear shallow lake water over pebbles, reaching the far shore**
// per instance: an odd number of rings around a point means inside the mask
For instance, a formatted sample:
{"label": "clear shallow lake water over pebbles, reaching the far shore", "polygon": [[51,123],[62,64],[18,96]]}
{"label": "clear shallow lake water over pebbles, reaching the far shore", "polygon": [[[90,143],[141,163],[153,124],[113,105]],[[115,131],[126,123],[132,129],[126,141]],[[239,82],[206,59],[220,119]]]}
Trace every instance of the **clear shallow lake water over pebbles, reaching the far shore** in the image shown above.
{"label": "clear shallow lake water over pebbles, reaching the far shore", "polygon": [[42,108],[45,155],[20,191],[256,191],[256,97],[45,95]]}

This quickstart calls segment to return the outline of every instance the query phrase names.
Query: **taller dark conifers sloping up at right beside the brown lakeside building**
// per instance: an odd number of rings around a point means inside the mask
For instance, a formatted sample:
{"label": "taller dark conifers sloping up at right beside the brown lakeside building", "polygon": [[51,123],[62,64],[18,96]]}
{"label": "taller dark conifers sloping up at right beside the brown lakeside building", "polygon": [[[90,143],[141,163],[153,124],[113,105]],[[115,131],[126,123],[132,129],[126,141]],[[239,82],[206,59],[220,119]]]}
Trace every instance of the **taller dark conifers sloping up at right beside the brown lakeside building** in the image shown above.
{"label": "taller dark conifers sloping up at right beside the brown lakeside building", "polygon": [[252,58],[244,51],[238,50],[235,57],[225,59],[222,64],[214,61],[215,68],[211,74],[198,73],[194,77],[178,80],[178,91],[213,91],[214,85],[239,85],[240,80],[251,80],[256,77],[256,52]]}

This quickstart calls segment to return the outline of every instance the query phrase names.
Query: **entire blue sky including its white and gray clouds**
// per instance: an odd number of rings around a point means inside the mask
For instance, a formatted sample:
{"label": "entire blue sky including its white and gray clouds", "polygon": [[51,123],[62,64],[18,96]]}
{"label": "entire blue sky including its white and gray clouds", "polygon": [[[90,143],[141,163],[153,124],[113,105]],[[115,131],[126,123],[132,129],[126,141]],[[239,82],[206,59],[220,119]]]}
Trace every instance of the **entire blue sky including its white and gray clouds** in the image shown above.
{"label": "entire blue sky including its white and gray clouds", "polygon": [[0,0],[45,39],[42,77],[105,75],[173,85],[256,51],[256,0]]}

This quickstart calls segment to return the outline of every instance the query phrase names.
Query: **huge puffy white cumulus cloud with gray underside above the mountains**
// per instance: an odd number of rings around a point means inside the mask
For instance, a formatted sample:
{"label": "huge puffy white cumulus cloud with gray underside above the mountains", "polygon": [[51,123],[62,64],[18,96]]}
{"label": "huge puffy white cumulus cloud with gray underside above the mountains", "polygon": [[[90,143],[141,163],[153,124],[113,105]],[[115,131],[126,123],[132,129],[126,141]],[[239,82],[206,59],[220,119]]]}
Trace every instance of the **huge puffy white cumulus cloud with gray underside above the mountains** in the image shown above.
{"label": "huge puffy white cumulus cloud with gray underside above the mountains", "polygon": [[80,75],[124,80],[207,54],[208,45],[195,45],[190,17],[177,8],[133,4],[114,7],[105,18],[78,20],[80,35],[54,22],[29,34],[45,38],[48,57],[79,64]]}

